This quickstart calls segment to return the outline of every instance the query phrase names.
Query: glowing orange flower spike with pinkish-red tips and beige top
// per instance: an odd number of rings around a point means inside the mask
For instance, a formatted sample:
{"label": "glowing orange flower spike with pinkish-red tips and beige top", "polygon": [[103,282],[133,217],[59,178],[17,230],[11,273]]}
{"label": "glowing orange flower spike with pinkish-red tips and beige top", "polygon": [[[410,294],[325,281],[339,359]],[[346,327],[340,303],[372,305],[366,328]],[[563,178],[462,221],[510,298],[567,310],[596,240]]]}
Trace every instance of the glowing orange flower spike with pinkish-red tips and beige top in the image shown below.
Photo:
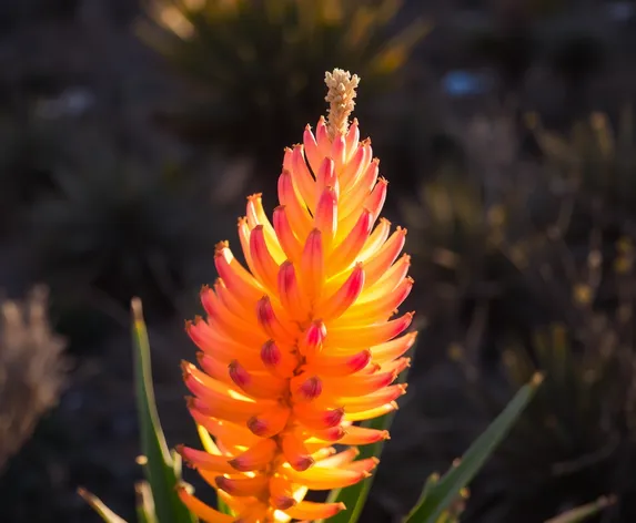
{"label": "glowing orange flower spike with pinkish-red tips and beige top", "polygon": [[[381,218],[386,181],[371,142],[349,124],[356,75],[326,73],[331,110],[315,134],[285,150],[281,205],[272,219],[248,198],[239,237],[248,268],[228,242],[216,246],[220,278],[204,287],[206,319],[188,324],[200,370],[183,363],[189,409],[204,451],[180,448],[236,516],[182,501],[203,521],[284,522],[330,517],[342,503],[304,501],[367,478],[377,460],[355,461],[355,445],[388,438],[356,421],[385,414],[406,387],[415,332],[397,337],[411,291],[406,230]],[[332,444],[352,445],[335,453]]]}

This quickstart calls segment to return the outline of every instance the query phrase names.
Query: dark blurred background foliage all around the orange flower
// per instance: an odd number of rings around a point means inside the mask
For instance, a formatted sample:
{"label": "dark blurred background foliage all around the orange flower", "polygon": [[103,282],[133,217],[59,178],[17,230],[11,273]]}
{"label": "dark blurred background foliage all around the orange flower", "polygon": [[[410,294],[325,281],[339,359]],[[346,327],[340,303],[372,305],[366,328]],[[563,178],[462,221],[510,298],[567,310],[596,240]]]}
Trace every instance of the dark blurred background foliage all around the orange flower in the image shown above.
{"label": "dark blurred background foliage all around the orange flower", "polygon": [[133,514],[133,296],[168,440],[195,440],[182,321],[334,66],[423,328],[362,521],[400,521],[536,370],[458,521],[603,495],[596,521],[635,521],[634,2],[10,0],[0,28],[0,521],[97,521],[78,485]]}

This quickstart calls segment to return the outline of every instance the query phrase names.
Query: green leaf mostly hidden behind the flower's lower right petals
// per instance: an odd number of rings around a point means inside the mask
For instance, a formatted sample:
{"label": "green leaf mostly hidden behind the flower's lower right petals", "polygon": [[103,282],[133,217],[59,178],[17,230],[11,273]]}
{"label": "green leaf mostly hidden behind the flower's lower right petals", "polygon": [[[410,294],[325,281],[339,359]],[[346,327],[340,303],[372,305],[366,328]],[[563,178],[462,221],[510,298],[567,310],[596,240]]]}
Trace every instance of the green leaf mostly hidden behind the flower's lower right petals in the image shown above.
{"label": "green leaf mostly hidden behind the flower's lower right petals", "polygon": [[[414,353],[415,347],[412,347],[408,355]],[[400,375],[398,382],[403,383],[406,381],[408,376],[408,369],[406,369],[402,375]],[[388,414],[381,416],[373,420],[367,420],[361,423],[361,427],[376,430],[388,430],[395,412],[390,412]],[[366,458],[380,458],[382,450],[384,449],[384,441],[378,441],[373,444],[360,447],[360,455],[357,459],[364,460]],[[326,501],[329,503],[344,503],[346,506],[345,511],[339,512],[336,515],[329,519],[329,523],[355,523],[362,515],[362,510],[364,509],[364,503],[373,484],[373,479],[375,474],[367,478],[360,483],[347,486],[345,489],[334,489],[329,493]],[[325,520],[320,520],[319,523],[324,523]]]}

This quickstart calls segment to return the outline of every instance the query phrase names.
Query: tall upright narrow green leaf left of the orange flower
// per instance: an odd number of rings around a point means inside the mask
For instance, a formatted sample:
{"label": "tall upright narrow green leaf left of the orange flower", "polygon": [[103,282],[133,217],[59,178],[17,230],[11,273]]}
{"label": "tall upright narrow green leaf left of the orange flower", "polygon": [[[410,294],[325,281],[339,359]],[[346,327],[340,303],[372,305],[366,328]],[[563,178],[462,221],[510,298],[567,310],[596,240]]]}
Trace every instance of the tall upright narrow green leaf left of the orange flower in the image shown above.
{"label": "tall upright narrow green leaf left of the orange flower", "polygon": [[157,522],[194,523],[196,519],[176,494],[180,476],[159,422],[152,386],[150,342],[139,299],[132,300],[132,316],[137,408],[143,452],[141,461],[154,500]]}

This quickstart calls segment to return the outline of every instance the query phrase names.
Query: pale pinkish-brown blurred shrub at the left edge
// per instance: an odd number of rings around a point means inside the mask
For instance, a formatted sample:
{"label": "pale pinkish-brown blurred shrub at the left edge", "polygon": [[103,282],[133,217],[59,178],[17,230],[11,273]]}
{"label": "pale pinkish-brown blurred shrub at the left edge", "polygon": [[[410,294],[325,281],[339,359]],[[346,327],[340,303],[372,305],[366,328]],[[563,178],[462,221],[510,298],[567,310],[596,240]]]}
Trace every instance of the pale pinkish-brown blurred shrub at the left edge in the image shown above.
{"label": "pale pinkish-brown blurred shrub at the left edge", "polygon": [[64,341],[50,328],[47,291],[3,301],[0,317],[0,471],[64,387]]}

